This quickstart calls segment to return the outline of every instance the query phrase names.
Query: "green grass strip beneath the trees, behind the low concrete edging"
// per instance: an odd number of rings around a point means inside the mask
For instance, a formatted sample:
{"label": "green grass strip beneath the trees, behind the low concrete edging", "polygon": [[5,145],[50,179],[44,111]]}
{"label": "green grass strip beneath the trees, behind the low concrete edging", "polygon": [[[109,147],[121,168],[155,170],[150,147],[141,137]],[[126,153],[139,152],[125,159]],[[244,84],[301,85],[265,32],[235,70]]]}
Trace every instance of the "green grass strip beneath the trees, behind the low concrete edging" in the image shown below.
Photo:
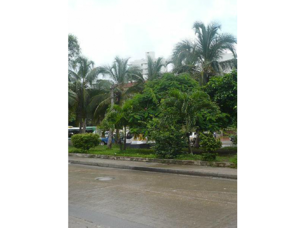
{"label": "green grass strip beneath the trees, behind the low concrete edging", "polygon": [[[183,151],[188,151],[188,149],[183,149]],[[69,153],[81,153],[81,151],[73,146],[69,146]],[[116,145],[112,146],[109,150],[107,146],[97,146],[88,150],[90,154],[102,154],[111,156],[126,156],[126,157],[146,157],[146,158],[157,158],[154,154],[153,149],[126,149],[125,151],[120,151],[119,147]],[[216,162],[232,162],[234,155],[218,155],[216,156]],[[182,154],[175,158],[176,160],[193,160],[193,161],[204,161],[202,155],[200,154]]]}

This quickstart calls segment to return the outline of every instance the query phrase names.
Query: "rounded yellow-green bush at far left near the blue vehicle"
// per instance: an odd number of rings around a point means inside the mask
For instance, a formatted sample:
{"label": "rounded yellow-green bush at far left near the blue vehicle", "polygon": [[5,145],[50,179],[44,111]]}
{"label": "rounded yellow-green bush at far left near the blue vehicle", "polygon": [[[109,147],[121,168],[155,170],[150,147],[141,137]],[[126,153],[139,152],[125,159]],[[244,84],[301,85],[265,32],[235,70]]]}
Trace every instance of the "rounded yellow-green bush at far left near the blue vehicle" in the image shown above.
{"label": "rounded yellow-green bush at far left near the blue vehicle", "polygon": [[71,141],[73,146],[81,149],[83,152],[86,152],[88,149],[98,146],[100,143],[100,138],[98,134],[84,133],[73,135]]}

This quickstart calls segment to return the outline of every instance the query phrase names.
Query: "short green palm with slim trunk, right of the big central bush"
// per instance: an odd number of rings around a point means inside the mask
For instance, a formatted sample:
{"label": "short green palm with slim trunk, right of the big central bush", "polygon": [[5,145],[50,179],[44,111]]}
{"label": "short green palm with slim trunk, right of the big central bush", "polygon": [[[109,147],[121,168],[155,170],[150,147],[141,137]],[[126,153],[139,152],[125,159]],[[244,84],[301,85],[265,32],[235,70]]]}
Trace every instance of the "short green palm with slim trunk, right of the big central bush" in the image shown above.
{"label": "short green palm with slim trunk, right of the big central bush", "polygon": [[164,106],[168,108],[168,112],[165,112],[165,121],[170,122],[170,119],[175,115],[179,117],[188,138],[188,151],[190,154],[193,154],[190,143],[190,132],[192,132],[195,127],[198,113],[203,109],[216,109],[216,105],[212,103],[209,96],[202,91],[183,93],[178,89],[171,90],[169,92],[169,98],[164,101]]}

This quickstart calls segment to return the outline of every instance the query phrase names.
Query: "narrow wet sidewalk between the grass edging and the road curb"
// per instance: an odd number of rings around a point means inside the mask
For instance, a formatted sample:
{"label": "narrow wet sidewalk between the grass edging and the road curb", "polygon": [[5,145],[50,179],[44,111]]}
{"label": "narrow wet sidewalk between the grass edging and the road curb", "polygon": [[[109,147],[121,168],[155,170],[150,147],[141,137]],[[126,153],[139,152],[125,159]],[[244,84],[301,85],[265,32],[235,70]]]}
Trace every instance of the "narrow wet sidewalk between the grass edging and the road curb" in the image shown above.
{"label": "narrow wet sidewalk between the grass edging and the road curb", "polygon": [[161,173],[174,173],[190,176],[212,176],[238,179],[238,169],[211,166],[173,165],[152,162],[120,161],[91,157],[69,156],[69,162],[75,164],[102,166],[109,168],[131,169]]}

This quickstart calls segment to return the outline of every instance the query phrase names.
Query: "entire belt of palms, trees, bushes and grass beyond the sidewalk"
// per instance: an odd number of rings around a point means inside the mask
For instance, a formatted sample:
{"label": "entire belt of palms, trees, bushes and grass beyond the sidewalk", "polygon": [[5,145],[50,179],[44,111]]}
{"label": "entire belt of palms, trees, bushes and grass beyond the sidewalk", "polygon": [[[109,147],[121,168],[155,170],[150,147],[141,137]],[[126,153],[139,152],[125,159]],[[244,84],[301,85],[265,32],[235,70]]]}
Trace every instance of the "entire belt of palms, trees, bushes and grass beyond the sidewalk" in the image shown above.
{"label": "entire belt of palms, trees, bushes and grass beyond the sidewalk", "polygon": [[[69,152],[233,161],[237,166],[237,155],[229,154],[229,150],[237,151],[237,40],[220,29],[218,23],[195,22],[196,39],[177,43],[167,62],[149,57],[146,72],[119,56],[110,65],[96,66],[82,56],[77,37],[69,34],[69,123],[79,126],[84,135],[72,136],[76,143]],[[234,58],[221,61],[226,51]],[[173,64],[173,70],[162,73],[161,67],[168,64]],[[128,83],[131,86],[126,86]],[[102,135],[109,130],[107,146],[85,135],[88,124],[97,126]],[[115,132],[118,136],[123,130],[126,139],[126,128],[155,145],[130,149],[120,137],[112,145]],[[226,129],[234,134],[234,147],[221,148],[222,143],[213,136],[213,132]],[[192,132],[197,133],[194,144]],[[217,154],[219,149],[227,153]]]}

